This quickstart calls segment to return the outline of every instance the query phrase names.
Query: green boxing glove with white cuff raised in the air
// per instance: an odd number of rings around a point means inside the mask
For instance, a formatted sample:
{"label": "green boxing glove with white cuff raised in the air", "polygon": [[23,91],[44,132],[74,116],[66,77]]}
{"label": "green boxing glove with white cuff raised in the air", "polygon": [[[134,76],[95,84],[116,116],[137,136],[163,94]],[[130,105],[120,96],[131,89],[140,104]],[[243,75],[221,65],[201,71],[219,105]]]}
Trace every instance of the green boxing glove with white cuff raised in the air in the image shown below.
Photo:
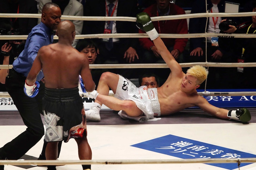
{"label": "green boxing glove with white cuff raised in the air", "polygon": [[145,31],[151,40],[154,40],[159,36],[154,24],[151,21],[151,18],[146,12],[137,14],[136,26]]}

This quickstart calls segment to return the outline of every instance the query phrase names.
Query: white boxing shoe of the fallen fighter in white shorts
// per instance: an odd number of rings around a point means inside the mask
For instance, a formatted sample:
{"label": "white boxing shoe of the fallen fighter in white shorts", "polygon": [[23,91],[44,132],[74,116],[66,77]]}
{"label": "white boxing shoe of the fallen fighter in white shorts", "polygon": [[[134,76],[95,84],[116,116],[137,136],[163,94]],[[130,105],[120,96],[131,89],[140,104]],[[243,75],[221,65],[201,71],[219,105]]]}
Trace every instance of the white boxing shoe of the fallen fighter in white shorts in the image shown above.
{"label": "white boxing shoe of the fallen fighter in white shorts", "polygon": [[92,122],[100,122],[99,110],[101,109],[100,104],[94,103],[91,109],[85,111],[86,120]]}

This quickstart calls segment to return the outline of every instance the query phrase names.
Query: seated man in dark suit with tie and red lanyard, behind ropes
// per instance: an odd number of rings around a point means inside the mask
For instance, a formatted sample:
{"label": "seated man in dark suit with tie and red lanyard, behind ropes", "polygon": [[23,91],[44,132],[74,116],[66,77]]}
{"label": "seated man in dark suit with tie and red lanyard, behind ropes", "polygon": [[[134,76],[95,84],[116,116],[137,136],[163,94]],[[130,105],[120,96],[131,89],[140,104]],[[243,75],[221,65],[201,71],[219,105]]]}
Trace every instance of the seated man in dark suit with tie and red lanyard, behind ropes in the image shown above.
{"label": "seated man in dark suit with tie and red lanyard, behind ropes", "polygon": [[[84,16],[95,17],[135,17],[137,0],[86,0]],[[83,34],[138,33],[133,22],[128,21],[84,21]],[[137,63],[138,38],[95,38],[99,48],[98,58],[102,64]],[[115,69],[127,77],[131,73]],[[123,71],[123,73],[121,73]]]}

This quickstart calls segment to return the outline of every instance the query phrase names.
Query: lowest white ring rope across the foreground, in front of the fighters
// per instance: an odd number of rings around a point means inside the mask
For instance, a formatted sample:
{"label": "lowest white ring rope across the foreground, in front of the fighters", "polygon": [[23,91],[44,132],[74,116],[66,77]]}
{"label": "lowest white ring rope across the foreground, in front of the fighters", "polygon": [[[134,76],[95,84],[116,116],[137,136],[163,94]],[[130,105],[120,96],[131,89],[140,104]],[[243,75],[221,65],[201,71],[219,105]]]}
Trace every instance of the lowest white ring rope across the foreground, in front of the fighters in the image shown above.
{"label": "lowest white ring rope across the foreground, in front of the fighters", "polygon": [[0,160],[0,165],[159,164],[159,163],[255,163],[256,158],[152,159],[152,160]]}

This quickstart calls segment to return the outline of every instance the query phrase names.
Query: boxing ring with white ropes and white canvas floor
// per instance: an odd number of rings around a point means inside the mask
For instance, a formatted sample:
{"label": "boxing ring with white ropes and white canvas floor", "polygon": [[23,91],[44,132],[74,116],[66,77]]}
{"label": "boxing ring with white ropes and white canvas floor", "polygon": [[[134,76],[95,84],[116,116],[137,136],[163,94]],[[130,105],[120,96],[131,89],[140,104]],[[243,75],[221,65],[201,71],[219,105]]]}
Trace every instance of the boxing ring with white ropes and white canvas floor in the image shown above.
{"label": "boxing ring with white ropes and white canvas floor", "polygon": [[[157,20],[175,20],[175,19],[187,19],[194,17],[245,17],[256,15],[255,12],[245,12],[245,13],[199,13],[199,14],[184,14],[175,16],[162,16],[162,17],[151,17],[152,21]],[[0,17],[29,17],[29,18],[40,18],[40,14],[0,14]],[[65,16],[63,15],[61,19],[65,20],[120,20],[120,21],[131,21],[135,22],[134,17],[78,17],[78,16]],[[226,34],[217,34],[218,36],[226,36]],[[159,34],[161,38],[198,38],[198,37],[217,37],[214,33],[197,33],[197,34]],[[234,38],[256,38],[253,34],[230,34]],[[148,37],[147,34],[94,34],[94,35],[76,35],[75,39],[83,38],[142,38]],[[26,39],[27,35],[0,35],[1,40],[17,40]],[[55,35],[54,39],[58,39]],[[207,50],[207,49],[206,49]],[[195,63],[180,63],[181,67],[191,67],[194,65],[201,65],[207,68],[209,67],[255,67],[256,63],[213,63],[207,62],[195,62]],[[90,64],[92,69],[98,68],[168,68],[167,64]],[[0,65],[0,69],[11,69],[12,65]],[[207,85],[207,80],[206,80]],[[198,94],[203,96],[252,96],[256,95],[256,91],[206,91],[202,90]],[[113,95],[110,91],[109,95]],[[1,98],[10,98],[8,93],[2,92],[0,94]],[[81,94],[82,96],[82,94]],[[253,98],[253,101],[255,99]],[[88,105],[89,107],[90,105]],[[17,136],[20,131],[25,130],[26,127],[23,125],[20,115],[15,109],[2,110],[0,105],[0,136],[2,136],[0,141],[0,146],[7,143],[7,141],[12,140]],[[89,109],[89,108],[88,108]],[[199,114],[198,114],[199,112]],[[194,115],[194,113],[197,113]],[[31,148],[26,156],[21,158],[21,160],[0,160],[0,165],[5,165],[5,170],[19,170],[28,169],[40,170],[45,169],[45,167],[39,167],[35,165],[65,165],[59,166],[57,169],[81,169],[81,164],[92,164],[92,169],[256,169],[256,147],[252,144],[256,137],[244,136],[237,137],[241,134],[253,134],[253,129],[256,128],[256,120],[254,119],[254,114],[256,110],[252,109],[252,120],[249,124],[241,124],[236,121],[229,120],[219,120],[213,118],[212,116],[206,115],[203,111],[197,110],[193,111],[185,110],[182,114],[175,114],[174,116],[167,117],[166,120],[138,123],[132,122],[130,120],[122,120],[117,113],[110,111],[105,108],[101,111],[102,121],[99,123],[87,122],[88,129],[88,140],[92,148],[93,159],[92,160],[79,160],[77,155],[76,144],[74,140],[70,140],[65,143],[62,147],[61,153],[66,153],[71,156],[59,158],[58,161],[39,161],[36,156],[39,156],[42,148],[42,140]],[[15,121],[11,119],[15,117]],[[114,118],[112,118],[114,117]],[[178,124],[179,119],[184,119],[189,117],[189,120]],[[198,118],[199,117],[199,118]],[[115,119],[116,118],[116,119]],[[198,119],[206,119],[206,123],[196,123]],[[43,118],[42,118],[43,119]],[[177,121],[178,120],[178,121]],[[12,126],[15,126],[14,128]],[[229,131],[221,132],[214,129],[231,129]],[[18,130],[17,130],[18,129]],[[174,130],[175,129],[175,130]],[[236,130],[232,130],[236,129]],[[14,136],[6,135],[15,134]],[[208,133],[205,132],[208,131]],[[130,132],[132,131],[132,133]],[[191,133],[195,132],[195,134]],[[246,133],[245,133],[246,132]],[[97,135],[96,135],[97,134]],[[127,136],[127,135],[130,136]],[[202,137],[200,134],[204,134]],[[90,136],[91,135],[91,136]],[[92,137],[93,135],[93,137]],[[134,139],[129,139],[134,138]],[[175,138],[175,141],[171,139]],[[104,140],[105,141],[104,141]],[[113,139],[113,140],[111,140]],[[102,141],[103,140],[103,141]],[[161,146],[155,146],[158,148],[148,148],[150,142],[157,143],[170,140],[168,145],[162,143]],[[157,142],[156,142],[157,141]],[[192,143],[194,148],[193,153],[182,153],[183,155],[172,155],[170,153],[178,153],[178,150],[182,150],[184,146],[178,144],[186,141],[186,144]],[[187,142],[189,141],[189,142]],[[149,143],[148,143],[149,142]],[[151,143],[151,144],[152,144]],[[195,144],[197,143],[197,144]],[[70,145],[70,146],[69,146]],[[208,150],[209,153],[214,153],[215,155],[224,155],[219,158],[208,158],[208,157],[198,157],[195,158],[196,151],[200,150],[201,147],[207,145],[204,150]],[[68,147],[66,147],[68,146]],[[174,146],[176,150],[174,151]],[[215,148],[214,148],[215,147]],[[156,151],[157,149],[157,151]],[[187,148],[188,149],[188,148]],[[227,152],[224,154],[225,149]],[[161,151],[159,151],[161,150]],[[168,150],[169,153],[164,153],[162,150]],[[213,152],[214,150],[214,152]],[[217,152],[218,151],[218,152]],[[238,151],[238,152],[236,152]],[[74,152],[74,154],[73,154]],[[127,153],[127,154],[124,154]],[[197,153],[198,154],[198,153]],[[212,154],[212,155],[214,155]],[[63,154],[64,155],[64,154]],[[116,155],[116,156],[115,156]],[[183,157],[186,155],[185,157]],[[188,157],[190,155],[191,157]],[[245,157],[243,157],[243,156]],[[123,159],[120,159],[124,156]],[[68,159],[67,159],[68,158]],[[215,166],[217,164],[218,166]],[[223,165],[224,164],[224,165]],[[230,164],[228,166],[227,164]],[[231,164],[233,166],[231,166]],[[124,166],[123,166],[124,165]],[[242,166],[243,165],[243,166]]]}

